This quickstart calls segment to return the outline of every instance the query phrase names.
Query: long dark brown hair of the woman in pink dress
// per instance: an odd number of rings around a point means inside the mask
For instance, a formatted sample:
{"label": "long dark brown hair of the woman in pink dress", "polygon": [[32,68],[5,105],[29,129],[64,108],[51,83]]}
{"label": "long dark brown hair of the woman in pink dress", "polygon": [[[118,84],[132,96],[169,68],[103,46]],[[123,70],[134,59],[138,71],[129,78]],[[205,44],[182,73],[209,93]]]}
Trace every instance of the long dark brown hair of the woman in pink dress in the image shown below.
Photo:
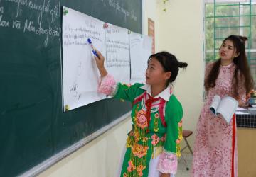
{"label": "long dark brown hair of the woman in pink dress", "polygon": [[[245,41],[247,40],[246,37],[240,36],[240,35],[230,35],[228,38],[225,38],[223,42],[226,40],[230,40],[233,42],[235,50],[238,55],[238,57],[234,57],[234,64],[236,65],[235,68],[235,74],[233,77],[233,96],[235,98],[238,98],[238,80],[241,79],[244,81],[244,86],[246,89],[246,93],[250,93],[250,91],[253,89],[253,79],[252,75],[250,73],[250,67],[247,62],[247,57],[245,55]],[[220,59],[218,59],[216,62],[213,63],[213,67],[210,70],[208,77],[205,80],[204,86],[206,88],[206,91],[208,91],[210,88],[215,87],[215,81],[218,78],[220,70]],[[238,71],[240,71],[240,76],[238,76]]]}

